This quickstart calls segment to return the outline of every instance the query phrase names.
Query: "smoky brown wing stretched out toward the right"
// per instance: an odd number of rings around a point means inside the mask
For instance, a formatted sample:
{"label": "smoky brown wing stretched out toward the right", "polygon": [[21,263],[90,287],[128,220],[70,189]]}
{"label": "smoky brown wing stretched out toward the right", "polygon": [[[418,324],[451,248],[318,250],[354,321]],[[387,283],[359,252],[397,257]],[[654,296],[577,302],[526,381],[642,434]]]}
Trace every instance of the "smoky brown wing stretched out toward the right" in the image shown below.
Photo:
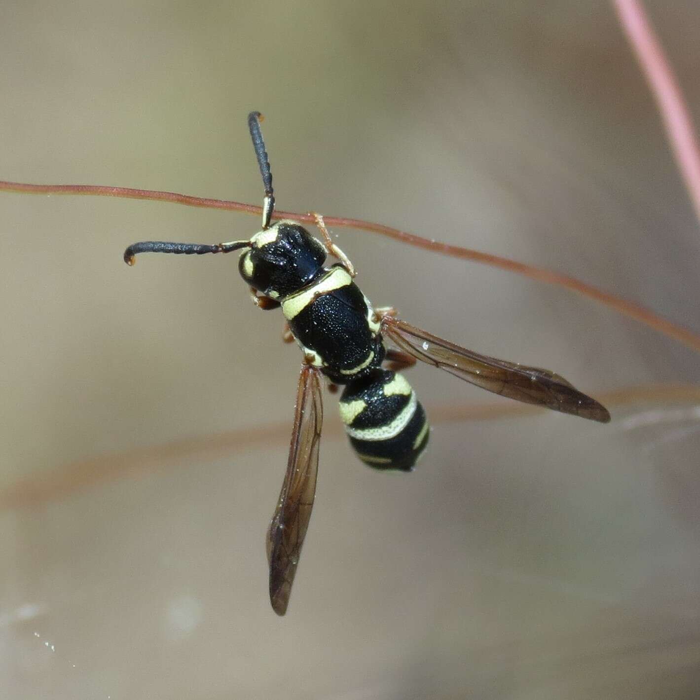
{"label": "smoky brown wing stretched out toward the right", "polygon": [[417,360],[440,367],[486,391],[591,421],[610,421],[605,407],[549,370],[479,355],[392,316],[382,318],[381,330],[399,349]]}

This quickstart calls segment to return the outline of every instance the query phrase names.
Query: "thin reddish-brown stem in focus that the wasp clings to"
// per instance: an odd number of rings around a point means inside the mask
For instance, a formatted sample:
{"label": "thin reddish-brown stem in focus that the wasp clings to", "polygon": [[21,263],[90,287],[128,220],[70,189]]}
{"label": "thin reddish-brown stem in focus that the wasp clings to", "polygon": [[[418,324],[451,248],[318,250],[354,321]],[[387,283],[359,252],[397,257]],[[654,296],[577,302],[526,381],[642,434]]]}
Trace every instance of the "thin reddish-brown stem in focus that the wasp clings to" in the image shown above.
{"label": "thin reddish-brown stem in focus that the wasp clings to", "polygon": [[[8,182],[0,180],[0,191],[18,192],[32,195],[94,195],[100,197],[124,197],[132,200],[153,200],[155,202],[171,202],[174,204],[185,204],[187,207],[203,207],[206,209],[225,209],[226,211],[242,211],[246,214],[262,214],[261,207],[255,207],[253,204],[242,204],[241,202],[232,202],[230,200],[212,200],[206,197],[193,197],[193,195],[180,195],[174,192],[159,192],[158,190],[137,190],[128,187],[109,187],[102,185],[31,185],[21,182]],[[315,223],[313,214],[295,214],[291,211],[275,211],[274,218],[290,218],[295,221],[304,223]],[[589,297],[596,302],[600,302],[611,309],[614,309],[619,314],[629,316],[639,323],[644,323],[650,328],[657,330],[668,337],[671,337],[696,352],[700,352],[700,336],[696,333],[683,328],[681,325],[671,323],[666,318],[654,314],[653,311],[645,307],[629,302],[614,294],[604,292],[591,284],[570,277],[566,274],[560,274],[543,267],[534,267],[526,265],[524,262],[517,260],[509,260],[502,258],[500,255],[491,255],[491,253],[482,253],[475,251],[472,248],[463,248],[448,243],[441,243],[433,239],[416,236],[412,233],[400,231],[391,226],[385,226],[371,221],[362,221],[361,219],[339,218],[336,216],[324,216],[325,223],[329,226],[342,228],[355,228],[379,235],[393,238],[397,241],[405,243],[416,248],[423,248],[426,251],[433,253],[441,253],[449,255],[451,258],[460,258],[461,260],[471,260],[479,262],[482,265],[490,267],[498,267],[506,272],[520,274],[529,279],[534,279],[547,284],[554,284],[571,291],[577,292],[584,297]]]}

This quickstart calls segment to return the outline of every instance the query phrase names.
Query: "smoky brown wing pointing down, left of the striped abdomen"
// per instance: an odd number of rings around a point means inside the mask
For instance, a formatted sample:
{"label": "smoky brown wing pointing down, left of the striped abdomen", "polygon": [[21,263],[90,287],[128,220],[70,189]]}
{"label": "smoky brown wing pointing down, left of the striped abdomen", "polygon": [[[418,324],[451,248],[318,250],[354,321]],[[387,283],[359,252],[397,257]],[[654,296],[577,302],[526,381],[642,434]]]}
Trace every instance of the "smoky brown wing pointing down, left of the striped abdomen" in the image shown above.
{"label": "smoky brown wing pointing down, left of the striped abdomen", "polygon": [[269,600],[277,615],[284,615],[287,610],[311,508],[314,507],[322,423],[323,399],[318,370],[304,365],[297,387],[287,472],[267,531]]}

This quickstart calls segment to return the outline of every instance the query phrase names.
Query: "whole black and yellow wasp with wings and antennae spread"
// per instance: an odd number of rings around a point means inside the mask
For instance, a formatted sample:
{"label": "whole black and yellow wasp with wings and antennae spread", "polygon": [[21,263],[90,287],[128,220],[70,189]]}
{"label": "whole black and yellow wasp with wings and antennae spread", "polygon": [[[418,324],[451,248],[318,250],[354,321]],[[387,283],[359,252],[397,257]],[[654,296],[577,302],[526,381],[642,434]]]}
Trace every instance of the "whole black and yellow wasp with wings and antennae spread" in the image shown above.
{"label": "whole black and yellow wasp with wings and antennae spread", "polygon": [[[416,360],[440,367],[486,391],[554,411],[606,423],[610,414],[559,374],[479,355],[395,317],[393,309],[373,309],[353,282],[355,270],[332,242],[320,215],[323,242],[294,221],[272,224],[274,195],[261,115],[248,127],[260,166],[265,198],[262,230],[251,239],[214,245],[142,241],[137,253],[230,253],[242,250],[238,267],[261,309],[281,307],[289,339],[304,353],[299,377],[287,471],[267,532],[269,597],[284,615],[316,491],[323,402],[321,374],[344,385],[340,415],[358,457],[376,469],[410,471],[426,449],[430,428],[410,384],[395,372]],[[324,267],[326,256],[339,262]],[[386,349],[390,341],[395,348]],[[388,369],[382,368],[384,361]]]}

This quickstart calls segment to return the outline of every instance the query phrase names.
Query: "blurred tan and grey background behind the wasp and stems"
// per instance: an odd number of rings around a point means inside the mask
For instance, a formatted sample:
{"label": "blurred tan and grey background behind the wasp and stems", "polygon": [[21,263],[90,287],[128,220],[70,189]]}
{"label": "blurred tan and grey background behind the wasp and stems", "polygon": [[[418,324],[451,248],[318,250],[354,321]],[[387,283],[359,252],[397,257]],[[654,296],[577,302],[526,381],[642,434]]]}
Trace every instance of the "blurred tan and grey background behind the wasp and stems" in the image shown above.
{"label": "blurred tan and grey background behind the wasp and stems", "polygon": [[[647,6],[700,121],[700,7]],[[258,109],[281,209],[552,267],[700,330],[699,227],[606,2],[10,0],[0,27],[3,179],[258,204]],[[3,698],[697,697],[692,405],[435,421],[419,469],[385,475],[326,395],[279,619],[263,542],[299,353],[231,257],[121,259],[257,218],[0,211]],[[337,233],[375,304],[477,351],[594,395],[699,379],[691,351],[563,290]],[[411,379],[433,412],[501,402]]]}

